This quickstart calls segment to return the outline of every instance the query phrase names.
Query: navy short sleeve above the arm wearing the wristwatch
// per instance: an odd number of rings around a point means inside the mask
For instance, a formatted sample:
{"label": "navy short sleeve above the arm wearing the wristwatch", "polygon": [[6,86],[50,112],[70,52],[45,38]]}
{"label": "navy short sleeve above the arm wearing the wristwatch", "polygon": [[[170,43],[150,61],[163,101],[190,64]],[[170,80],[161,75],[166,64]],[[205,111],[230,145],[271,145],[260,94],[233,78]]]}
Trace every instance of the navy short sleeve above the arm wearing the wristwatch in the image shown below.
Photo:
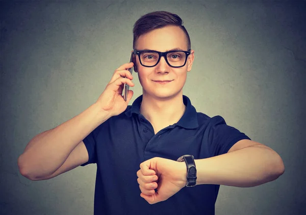
{"label": "navy short sleeve above the arm wearing the wristwatch", "polygon": [[211,118],[208,147],[211,156],[225,154],[231,147],[240,140],[251,140],[238,129],[226,125],[221,116]]}

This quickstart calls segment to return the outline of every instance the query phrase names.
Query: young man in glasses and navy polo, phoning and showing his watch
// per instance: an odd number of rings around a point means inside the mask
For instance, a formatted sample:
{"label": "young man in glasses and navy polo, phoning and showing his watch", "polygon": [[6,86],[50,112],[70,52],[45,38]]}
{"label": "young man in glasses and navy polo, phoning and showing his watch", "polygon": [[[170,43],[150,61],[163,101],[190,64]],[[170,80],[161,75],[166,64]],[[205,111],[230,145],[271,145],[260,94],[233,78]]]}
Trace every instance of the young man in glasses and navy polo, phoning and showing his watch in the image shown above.
{"label": "young man in glasses and navy polo, phoning and showing his watch", "polygon": [[[33,138],[18,158],[22,175],[44,180],[96,163],[94,214],[214,214],[220,184],[256,186],[284,173],[275,151],[197,113],[183,95],[194,50],[179,16],[146,14],[133,33],[134,63],[116,69],[87,110]],[[121,94],[134,86],[132,66],[143,94],[128,106],[133,91]]]}

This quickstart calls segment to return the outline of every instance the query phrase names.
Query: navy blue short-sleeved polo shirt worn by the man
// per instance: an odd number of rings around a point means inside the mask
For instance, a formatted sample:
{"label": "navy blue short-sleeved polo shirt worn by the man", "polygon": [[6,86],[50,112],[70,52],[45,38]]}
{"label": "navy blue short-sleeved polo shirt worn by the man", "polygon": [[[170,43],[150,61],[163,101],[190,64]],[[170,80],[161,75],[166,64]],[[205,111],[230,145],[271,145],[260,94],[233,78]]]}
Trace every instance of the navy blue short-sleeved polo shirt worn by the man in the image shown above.
{"label": "navy blue short-sleeved polo shirt worn by the man", "polygon": [[197,113],[185,95],[187,108],[182,118],[155,135],[150,122],[140,114],[141,101],[142,95],[83,140],[89,160],[81,166],[97,165],[94,214],[215,214],[218,184],[184,187],[166,201],[149,204],[140,197],[139,165],[152,157],[213,157],[227,153],[239,140],[250,139],[226,125],[221,116]]}

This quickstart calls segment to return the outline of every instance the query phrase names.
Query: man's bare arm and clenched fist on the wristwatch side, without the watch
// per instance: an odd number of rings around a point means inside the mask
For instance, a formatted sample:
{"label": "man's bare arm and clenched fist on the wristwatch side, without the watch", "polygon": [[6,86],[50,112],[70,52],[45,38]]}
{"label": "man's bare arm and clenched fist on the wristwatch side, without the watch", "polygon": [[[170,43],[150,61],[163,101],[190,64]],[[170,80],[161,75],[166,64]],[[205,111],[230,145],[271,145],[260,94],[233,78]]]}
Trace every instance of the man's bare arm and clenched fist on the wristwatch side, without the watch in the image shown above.
{"label": "man's bare arm and clenched fist on the wristwatch side, without the watch", "polygon": [[[275,151],[248,141],[235,144],[226,154],[194,160],[196,184],[251,187],[273,181],[284,173],[283,160]],[[154,157],[140,164],[137,176],[140,196],[155,204],[167,200],[186,185],[187,169],[184,162]]]}

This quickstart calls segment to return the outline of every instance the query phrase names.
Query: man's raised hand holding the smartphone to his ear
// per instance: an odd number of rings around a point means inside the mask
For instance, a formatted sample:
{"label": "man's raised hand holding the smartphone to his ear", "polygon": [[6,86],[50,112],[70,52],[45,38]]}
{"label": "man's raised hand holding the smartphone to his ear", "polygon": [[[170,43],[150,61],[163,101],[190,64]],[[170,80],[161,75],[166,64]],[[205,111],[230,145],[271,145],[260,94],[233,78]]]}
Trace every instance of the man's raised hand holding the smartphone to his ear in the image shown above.
{"label": "man's raised hand holding the smartphone to his ear", "polygon": [[122,91],[124,84],[127,84],[130,87],[134,86],[134,83],[132,82],[133,76],[130,71],[126,70],[132,68],[133,65],[133,62],[130,62],[123,64],[116,69],[104,92],[95,102],[100,106],[101,113],[103,112],[104,115],[105,113],[107,113],[109,117],[119,115],[129,104],[134,92],[129,90],[126,101],[124,101]]}

